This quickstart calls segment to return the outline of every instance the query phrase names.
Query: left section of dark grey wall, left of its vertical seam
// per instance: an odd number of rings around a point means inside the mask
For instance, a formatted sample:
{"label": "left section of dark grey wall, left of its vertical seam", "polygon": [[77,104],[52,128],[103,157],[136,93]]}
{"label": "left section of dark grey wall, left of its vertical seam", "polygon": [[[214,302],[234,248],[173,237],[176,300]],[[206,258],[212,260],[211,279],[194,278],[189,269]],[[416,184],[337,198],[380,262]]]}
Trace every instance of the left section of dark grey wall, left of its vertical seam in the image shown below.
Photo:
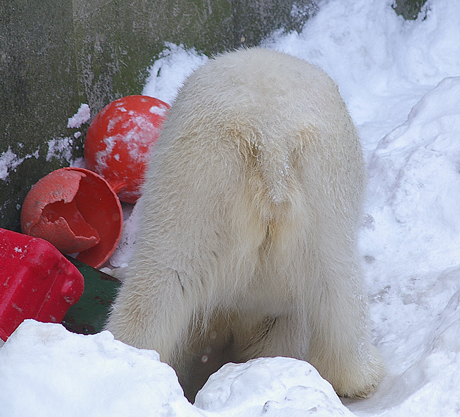
{"label": "left section of dark grey wall, left of its vertical seam", "polygon": [[0,156],[9,150],[18,164],[0,177],[0,227],[18,230],[30,186],[61,165],[46,160],[49,140],[72,135],[67,117],[80,102],[72,21],[69,0],[0,2]]}

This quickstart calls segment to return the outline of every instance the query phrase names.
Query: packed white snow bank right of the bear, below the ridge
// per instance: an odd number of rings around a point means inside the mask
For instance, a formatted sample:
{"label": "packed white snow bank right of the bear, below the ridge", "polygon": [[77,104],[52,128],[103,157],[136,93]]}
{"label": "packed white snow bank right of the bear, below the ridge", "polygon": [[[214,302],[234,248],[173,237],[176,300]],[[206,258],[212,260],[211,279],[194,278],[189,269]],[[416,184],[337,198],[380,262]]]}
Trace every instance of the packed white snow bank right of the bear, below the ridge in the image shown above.
{"label": "packed white snow bank right of the bear, below the ridge", "polygon": [[388,376],[372,415],[460,411],[460,77],[442,80],[369,158],[361,252]]}

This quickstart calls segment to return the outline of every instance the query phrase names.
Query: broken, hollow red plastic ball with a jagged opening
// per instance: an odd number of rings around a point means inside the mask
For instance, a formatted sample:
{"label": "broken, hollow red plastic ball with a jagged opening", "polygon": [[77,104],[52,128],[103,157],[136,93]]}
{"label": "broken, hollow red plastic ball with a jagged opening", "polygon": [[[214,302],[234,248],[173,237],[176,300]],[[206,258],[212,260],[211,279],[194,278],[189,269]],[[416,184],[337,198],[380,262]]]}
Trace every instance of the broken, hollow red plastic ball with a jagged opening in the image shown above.
{"label": "broken, hollow red plastic ball with a jagged opening", "polygon": [[38,181],[24,200],[22,232],[51,242],[94,268],[115,251],[123,227],[117,195],[100,175],[61,168]]}

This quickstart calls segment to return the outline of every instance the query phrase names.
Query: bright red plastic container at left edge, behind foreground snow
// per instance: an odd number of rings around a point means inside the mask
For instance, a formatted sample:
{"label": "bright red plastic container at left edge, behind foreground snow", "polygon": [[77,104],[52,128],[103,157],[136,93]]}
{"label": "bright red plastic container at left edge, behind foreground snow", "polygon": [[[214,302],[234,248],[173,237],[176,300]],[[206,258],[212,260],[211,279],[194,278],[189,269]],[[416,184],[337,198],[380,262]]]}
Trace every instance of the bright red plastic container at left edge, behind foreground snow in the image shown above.
{"label": "bright red plastic container at left edge, behind foreground snow", "polygon": [[3,341],[26,319],[60,323],[83,289],[83,275],[49,242],[0,229]]}

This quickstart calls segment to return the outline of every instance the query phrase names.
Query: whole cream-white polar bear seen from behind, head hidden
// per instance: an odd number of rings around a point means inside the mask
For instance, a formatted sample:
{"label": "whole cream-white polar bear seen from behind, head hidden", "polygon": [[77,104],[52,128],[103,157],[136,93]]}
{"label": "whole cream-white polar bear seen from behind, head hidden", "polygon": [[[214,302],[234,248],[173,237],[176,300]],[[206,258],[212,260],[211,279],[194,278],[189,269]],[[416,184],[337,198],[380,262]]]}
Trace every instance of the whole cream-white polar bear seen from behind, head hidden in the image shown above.
{"label": "whole cream-white polar bear seen from behind, head hidden", "polygon": [[[180,89],[106,328],[193,399],[226,361],[309,361],[341,396],[382,375],[357,252],[365,168],[333,81],[284,53],[223,54]],[[201,368],[200,368],[201,366]]]}

